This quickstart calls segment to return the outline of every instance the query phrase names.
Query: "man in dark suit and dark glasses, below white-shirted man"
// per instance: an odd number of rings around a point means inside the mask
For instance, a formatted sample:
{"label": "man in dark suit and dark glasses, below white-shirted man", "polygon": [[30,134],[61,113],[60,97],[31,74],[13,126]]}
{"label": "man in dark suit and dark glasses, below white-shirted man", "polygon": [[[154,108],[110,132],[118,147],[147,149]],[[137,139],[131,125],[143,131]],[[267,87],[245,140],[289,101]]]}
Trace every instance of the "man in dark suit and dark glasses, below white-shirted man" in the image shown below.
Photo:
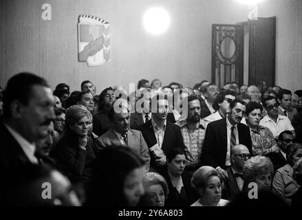
{"label": "man in dark suit and dark glasses, below white-shirted man", "polygon": [[291,131],[282,131],[278,137],[278,146],[280,148],[279,152],[270,152],[266,154],[266,157],[269,157],[274,166],[274,172],[276,172],[285,164],[288,164],[286,159],[286,151],[288,146],[294,142],[294,135]]}

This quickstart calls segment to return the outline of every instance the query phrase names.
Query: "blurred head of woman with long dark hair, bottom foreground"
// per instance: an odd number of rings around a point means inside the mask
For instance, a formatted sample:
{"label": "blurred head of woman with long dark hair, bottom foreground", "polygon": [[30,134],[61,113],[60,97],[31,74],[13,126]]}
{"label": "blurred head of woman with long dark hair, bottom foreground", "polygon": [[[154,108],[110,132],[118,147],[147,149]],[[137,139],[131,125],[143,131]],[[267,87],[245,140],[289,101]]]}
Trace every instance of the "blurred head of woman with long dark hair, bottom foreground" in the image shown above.
{"label": "blurred head of woman with long dark hair, bottom foreground", "polygon": [[144,193],[144,161],[129,147],[103,149],[93,164],[86,206],[137,206]]}

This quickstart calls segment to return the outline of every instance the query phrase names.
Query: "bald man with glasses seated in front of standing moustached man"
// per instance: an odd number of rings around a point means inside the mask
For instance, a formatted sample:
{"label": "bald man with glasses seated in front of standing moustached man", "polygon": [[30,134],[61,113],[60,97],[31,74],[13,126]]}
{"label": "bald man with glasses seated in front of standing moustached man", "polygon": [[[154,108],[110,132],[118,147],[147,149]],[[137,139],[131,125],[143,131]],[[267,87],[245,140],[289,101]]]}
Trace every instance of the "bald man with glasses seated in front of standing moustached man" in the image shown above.
{"label": "bald man with glasses seated in front of standing moustached man", "polygon": [[230,149],[230,164],[226,169],[228,180],[224,183],[225,189],[223,197],[225,199],[233,199],[237,193],[241,192],[244,186],[242,177],[242,168],[247,159],[250,158],[250,151],[243,144],[237,144]]}

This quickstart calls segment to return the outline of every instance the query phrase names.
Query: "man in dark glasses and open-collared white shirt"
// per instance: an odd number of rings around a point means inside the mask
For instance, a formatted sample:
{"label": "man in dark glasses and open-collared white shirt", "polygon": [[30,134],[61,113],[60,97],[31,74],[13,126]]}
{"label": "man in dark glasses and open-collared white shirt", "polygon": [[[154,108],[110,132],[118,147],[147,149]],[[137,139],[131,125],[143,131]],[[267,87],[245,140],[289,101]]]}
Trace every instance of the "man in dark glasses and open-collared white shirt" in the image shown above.
{"label": "man in dark glasses and open-collared white shirt", "polygon": [[263,107],[266,109],[268,115],[264,116],[260,120],[259,125],[268,127],[268,129],[272,131],[276,140],[278,140],[278,135],[285,130],[292,131],[294,137],[296,136],[294,127],[288,117],[285,115],[279,115],[279,104],[274,96],[268,96],[265,98],[263,100]]}

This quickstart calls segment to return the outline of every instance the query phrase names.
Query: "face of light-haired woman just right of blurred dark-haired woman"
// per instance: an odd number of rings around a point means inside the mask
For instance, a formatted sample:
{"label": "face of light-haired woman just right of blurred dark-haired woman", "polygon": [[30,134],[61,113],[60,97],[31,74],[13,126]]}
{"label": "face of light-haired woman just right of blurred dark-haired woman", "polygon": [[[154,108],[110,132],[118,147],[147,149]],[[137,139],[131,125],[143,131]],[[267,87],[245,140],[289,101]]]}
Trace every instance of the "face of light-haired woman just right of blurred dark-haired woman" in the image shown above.
{"label": "face of light-haired woman just right of blurred dark-haired woman", "polygon": [[145,188],[144,201],[146,206],[164,206],[164,189],[162,185],[155,184]]}

